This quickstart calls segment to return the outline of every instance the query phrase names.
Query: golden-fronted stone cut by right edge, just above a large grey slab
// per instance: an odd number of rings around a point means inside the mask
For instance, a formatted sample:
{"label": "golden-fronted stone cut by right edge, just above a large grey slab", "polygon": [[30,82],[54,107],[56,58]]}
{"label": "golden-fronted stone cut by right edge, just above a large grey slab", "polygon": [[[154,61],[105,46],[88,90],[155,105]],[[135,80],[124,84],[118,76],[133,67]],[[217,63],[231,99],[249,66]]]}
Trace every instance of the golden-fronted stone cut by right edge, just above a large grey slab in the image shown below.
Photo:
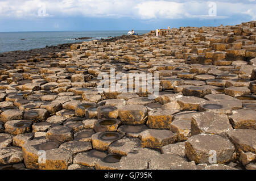
{"label": "golden-fronted stone cut by right edge, just above a large grey slab", "polygon": [[236,110],[229,117],[234,129],[256,129],[256,111]]}

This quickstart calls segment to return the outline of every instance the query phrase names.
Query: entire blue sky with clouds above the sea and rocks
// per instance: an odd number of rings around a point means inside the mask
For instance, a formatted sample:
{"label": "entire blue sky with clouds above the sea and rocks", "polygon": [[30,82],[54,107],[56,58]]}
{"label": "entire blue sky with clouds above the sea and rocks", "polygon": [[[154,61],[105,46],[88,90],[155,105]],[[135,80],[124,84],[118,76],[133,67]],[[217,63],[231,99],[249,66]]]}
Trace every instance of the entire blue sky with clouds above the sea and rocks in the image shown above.
{"label": "entire blue sky with clouds above the sea and rocks", "polygon": [[256,20],[256,0],[0,0],[0,32],[155,30]]}

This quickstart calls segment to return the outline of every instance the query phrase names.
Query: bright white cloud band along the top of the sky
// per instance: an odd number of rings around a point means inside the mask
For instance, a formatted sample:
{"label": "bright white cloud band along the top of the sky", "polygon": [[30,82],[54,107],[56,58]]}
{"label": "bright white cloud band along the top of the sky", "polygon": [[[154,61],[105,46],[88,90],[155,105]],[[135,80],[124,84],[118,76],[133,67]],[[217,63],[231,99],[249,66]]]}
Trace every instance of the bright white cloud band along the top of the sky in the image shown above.
{"label": "bright white cloud band along the top of the sky", "polygon": [[[256,1],[216,0],[217,16],[210,16],[208,1],[188,0],[2,0],[0,18],[129,17],[137,19],[220,19],[234,14],[255,19]],[[44,8],[45,7],[45,11]]]}

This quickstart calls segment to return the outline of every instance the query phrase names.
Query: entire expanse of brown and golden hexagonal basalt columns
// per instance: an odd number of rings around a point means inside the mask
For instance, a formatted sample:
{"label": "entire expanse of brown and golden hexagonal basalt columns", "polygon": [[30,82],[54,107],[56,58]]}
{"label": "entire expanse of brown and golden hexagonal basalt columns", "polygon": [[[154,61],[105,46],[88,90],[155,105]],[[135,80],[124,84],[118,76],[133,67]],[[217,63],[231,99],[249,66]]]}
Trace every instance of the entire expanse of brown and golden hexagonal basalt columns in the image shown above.
{"label": "entire expanse of brown and golden hexagonal basalt columns", "polygon": [[0,169],[256,169],[255,28],[2,53]]}

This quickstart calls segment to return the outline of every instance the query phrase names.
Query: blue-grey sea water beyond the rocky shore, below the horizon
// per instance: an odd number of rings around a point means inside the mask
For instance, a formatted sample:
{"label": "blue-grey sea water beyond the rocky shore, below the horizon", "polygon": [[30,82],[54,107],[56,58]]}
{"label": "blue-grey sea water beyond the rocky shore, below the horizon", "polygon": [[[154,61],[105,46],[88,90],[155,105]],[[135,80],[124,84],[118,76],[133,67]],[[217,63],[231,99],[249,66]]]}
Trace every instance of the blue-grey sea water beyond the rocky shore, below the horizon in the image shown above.
{"label": "blue-grey sea water beyond the rocky shore, below the horizon", "polygon": [[[0,53],[14,50],[44,48],[58,45],[127,35],[128,31],[52,31],[52,32],[0,32]],[[139,35],[150,30],[135,31]],[[88,40],[74,40],[78,37],[93,37]],[[24,40],[22,40],[24,39]]]}

